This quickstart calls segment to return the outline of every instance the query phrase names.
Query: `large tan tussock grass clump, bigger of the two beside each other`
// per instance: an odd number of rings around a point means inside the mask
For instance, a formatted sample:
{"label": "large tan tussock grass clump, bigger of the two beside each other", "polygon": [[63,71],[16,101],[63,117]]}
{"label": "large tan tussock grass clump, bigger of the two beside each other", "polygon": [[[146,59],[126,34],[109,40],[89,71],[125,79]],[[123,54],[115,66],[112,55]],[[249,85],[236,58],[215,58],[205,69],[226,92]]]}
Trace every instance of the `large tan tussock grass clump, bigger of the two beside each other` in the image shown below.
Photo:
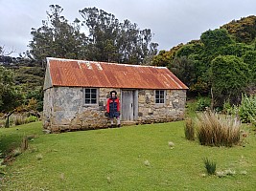
{"label": "large tan tussock grass clump, bigger of the two beside each other", "polygon": [[206,112],[198,114],[196,123],[201,145],[233,146],[240,142],[241,121],[236,117]]}

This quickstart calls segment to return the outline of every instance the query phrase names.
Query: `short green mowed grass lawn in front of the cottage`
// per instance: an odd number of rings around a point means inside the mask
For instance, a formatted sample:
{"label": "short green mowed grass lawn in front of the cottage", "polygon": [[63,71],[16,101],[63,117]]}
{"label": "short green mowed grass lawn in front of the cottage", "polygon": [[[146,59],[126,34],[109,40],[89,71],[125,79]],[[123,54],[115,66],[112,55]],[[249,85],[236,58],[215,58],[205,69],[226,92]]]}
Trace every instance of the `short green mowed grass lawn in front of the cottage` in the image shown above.
{"label": "short green mowed grass lawn in front of the cottage", "polygon": [[[226,148],[185,139],[184,121],[51,135],[42,135],[40,122],[18,129],[0,129],[1,144],[17,132],[38,138],[6,169],[2,190],[256,189],[253,131],[244,147]],[[204,158],[236,174],[203,176]]]}

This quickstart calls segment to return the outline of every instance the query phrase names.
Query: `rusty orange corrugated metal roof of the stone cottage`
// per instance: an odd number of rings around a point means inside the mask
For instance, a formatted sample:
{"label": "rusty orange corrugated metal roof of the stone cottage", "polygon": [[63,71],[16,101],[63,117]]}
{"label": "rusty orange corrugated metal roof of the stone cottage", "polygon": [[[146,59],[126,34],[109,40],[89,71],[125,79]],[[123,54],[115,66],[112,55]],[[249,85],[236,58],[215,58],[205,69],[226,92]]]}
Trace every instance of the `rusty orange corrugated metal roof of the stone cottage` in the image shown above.
{"label": "rusty orange corrugated metal roof of the stone cottage", "polygon": [[188,89],[166,67],[47,58],[53,86]]}

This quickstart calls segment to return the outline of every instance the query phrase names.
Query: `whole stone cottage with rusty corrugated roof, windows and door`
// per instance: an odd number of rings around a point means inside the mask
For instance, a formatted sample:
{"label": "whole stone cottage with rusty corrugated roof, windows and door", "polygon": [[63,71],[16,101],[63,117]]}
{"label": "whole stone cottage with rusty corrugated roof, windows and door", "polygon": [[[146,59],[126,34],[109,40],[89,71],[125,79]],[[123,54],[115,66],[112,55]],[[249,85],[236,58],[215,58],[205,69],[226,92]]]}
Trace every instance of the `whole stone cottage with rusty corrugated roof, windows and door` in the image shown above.
{"label": "whole stone cottage with rusty corrugated roof, windows and door", "polygon": [[109,126],[105,104],[115,90],[121,124],[184,117],[188,88],[166,67],[47,58],[43,127],[51,132]]}

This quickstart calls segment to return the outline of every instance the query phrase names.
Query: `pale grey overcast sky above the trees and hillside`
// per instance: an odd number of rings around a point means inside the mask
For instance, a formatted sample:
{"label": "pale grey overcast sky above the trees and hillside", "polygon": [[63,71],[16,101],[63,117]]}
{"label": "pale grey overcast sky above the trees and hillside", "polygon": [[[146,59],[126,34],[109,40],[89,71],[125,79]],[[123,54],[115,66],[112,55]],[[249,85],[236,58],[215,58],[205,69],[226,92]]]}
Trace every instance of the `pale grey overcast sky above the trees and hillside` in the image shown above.
{"label": "pale grey overcast sky above the trees and hillside", "polygon": [[[256,0],[0,0],[0,46],[12,56],[29,50],[32,28],[42,26],[49,5],[59,5],[70,22],[79,10],[96,7],[128,19],[154,33],[158,50],[199,39],[200,34],[248,15],[256,15]],[[82,19],[81,19],[82,20]]]}

